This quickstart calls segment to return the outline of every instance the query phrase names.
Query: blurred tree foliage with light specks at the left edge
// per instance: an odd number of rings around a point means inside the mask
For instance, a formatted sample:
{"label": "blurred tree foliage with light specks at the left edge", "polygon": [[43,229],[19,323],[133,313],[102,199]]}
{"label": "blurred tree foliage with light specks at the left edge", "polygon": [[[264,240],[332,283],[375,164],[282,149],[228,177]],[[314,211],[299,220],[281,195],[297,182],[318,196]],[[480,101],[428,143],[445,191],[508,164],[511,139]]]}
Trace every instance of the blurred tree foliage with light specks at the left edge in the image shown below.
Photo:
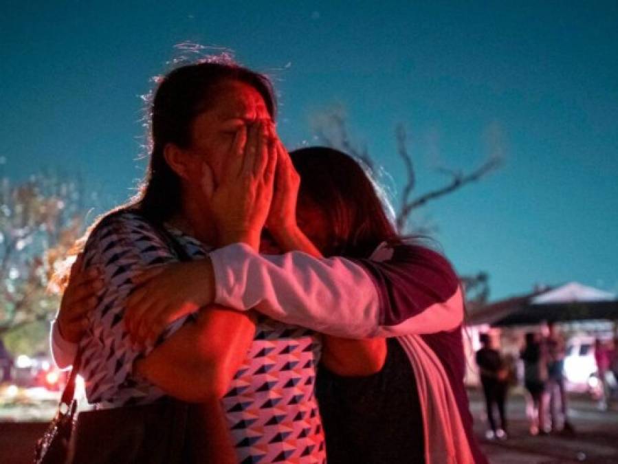
{"label": "blurred tree foliage with light specks at the left edge", "polygon": [[82,232],[81,199],[78,182],[57,175],[0,179],[0,337],[13,353],[46,349],[58,308],[48,287]]}

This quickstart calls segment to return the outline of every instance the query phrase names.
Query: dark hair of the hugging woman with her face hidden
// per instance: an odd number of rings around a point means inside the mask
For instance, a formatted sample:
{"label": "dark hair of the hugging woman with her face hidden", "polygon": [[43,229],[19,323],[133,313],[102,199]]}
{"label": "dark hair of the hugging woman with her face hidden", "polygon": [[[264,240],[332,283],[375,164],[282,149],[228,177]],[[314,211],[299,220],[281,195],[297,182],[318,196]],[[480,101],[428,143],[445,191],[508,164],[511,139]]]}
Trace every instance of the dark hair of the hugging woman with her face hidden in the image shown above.
{"label": "dark hair of the hugging woman with her face hidden", "polygon": [[373,182],[353,157],[324,146],[300,148],[290,157],[300,175],[299,203],[309,200],[327,215],[333,245],[324,254],[367,258],[384,241],[401,243]]}

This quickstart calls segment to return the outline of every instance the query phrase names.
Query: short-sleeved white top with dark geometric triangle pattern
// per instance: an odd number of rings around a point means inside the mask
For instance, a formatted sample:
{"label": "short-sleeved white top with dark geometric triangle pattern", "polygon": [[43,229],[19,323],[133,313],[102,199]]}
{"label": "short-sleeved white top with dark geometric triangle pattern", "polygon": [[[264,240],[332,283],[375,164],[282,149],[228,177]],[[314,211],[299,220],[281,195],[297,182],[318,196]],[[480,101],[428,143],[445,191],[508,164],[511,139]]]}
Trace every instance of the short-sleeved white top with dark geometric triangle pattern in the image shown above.
{"label": "short-sleeved white top with dark geometric triangle pattern", "polygon": [[[206,256],[208,249],[199,241],[168,230],[190,257]],[[90,404],[131,406],[164,397],[160,388],[133,373],[135,360],[153,347],[132,346],[122,316],[133,288],[131,277],[145,267],[174,261],[177,257],[164,239],[132,212],[115,214],[90,234],[85,267],[98,265],[104,274],[104,288],[80,342],[80,374]],[[157,344],[192,320],[186,316],[170,324]],[[325,462],[314,393],[320,352],[318,334],[258,316],[254,342],[222,400],[239,462]]]}

